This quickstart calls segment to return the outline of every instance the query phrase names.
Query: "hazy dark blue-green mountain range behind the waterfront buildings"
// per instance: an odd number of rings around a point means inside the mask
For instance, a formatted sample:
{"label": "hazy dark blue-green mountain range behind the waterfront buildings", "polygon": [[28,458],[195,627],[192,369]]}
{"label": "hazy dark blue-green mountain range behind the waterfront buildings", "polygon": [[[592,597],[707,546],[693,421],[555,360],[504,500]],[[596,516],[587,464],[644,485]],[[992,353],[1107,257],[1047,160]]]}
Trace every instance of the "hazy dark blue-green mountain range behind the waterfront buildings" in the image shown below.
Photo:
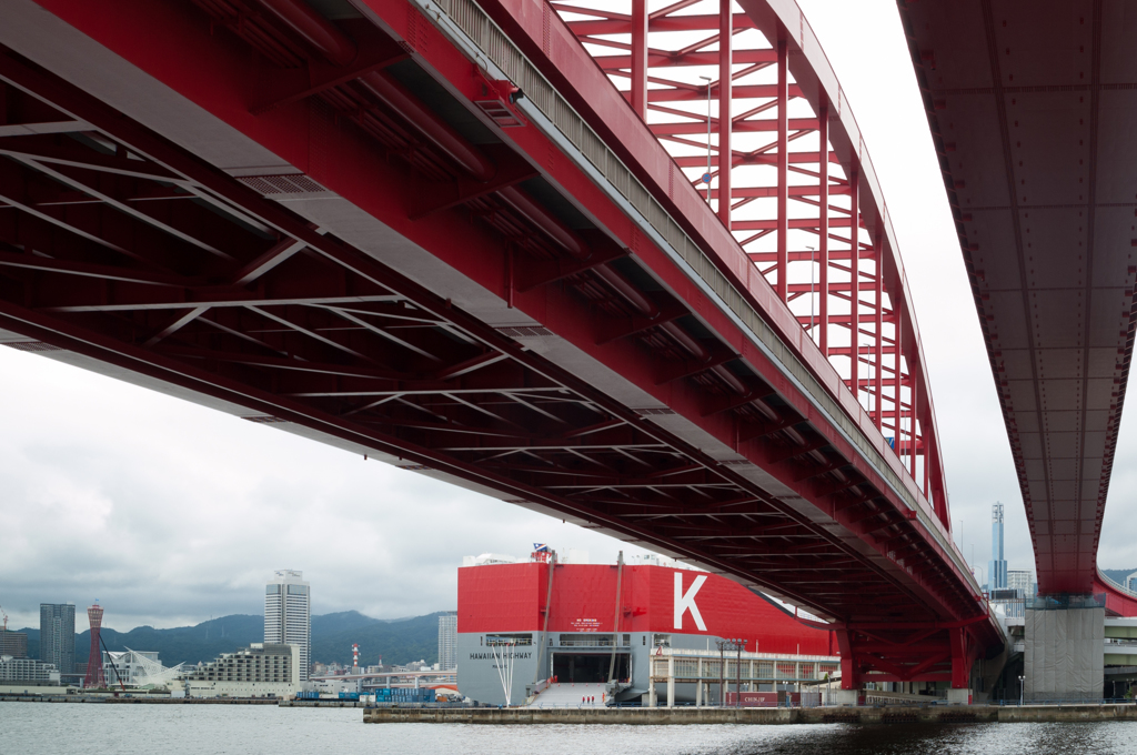
{"label": "hazy dark blue-green mountain range behind the waterfront buildings", "polygon": [[[438,662],[439,613],[414,619],[372,619],[358,611],[345,611],[312,617],[312,659],[318,663],[350,665],[351,645],[359,645],[359,659],[375,665],[404,664],[412,661]],[[76,616],[77,619],[77,616]],[[27,655],[40,655],[40,630],[22,629],[27,633]],[[205,621],[196,627],[153,629],[136,627],[128,632],[102,629],[102,641],[110,650],[157,650],[164,665],[209,662],[222,653],[246,647],[265,639],[265,617],[234,614]],[[75,661],[86,664],[91,649],[91,631],[75,636]]]}

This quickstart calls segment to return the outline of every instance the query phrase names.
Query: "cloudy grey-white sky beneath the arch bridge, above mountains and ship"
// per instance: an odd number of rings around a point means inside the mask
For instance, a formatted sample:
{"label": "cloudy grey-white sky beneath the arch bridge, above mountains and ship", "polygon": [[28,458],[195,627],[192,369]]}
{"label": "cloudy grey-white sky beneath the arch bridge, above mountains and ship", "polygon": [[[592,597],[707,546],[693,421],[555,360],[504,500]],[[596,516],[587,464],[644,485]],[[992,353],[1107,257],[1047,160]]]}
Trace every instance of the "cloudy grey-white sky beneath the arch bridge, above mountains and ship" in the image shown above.
{"label": "cloudy grey-white sky beneath the arch bridge, above mountains and ship", "polygon": [[[301,569],[317,613],[454,607],[460,557],[532,542],[642,553],[413,472],[0,349],[0,605],[96,598],[107,625],[259,613]],[[80,620],[80,628],[84,628]]]}

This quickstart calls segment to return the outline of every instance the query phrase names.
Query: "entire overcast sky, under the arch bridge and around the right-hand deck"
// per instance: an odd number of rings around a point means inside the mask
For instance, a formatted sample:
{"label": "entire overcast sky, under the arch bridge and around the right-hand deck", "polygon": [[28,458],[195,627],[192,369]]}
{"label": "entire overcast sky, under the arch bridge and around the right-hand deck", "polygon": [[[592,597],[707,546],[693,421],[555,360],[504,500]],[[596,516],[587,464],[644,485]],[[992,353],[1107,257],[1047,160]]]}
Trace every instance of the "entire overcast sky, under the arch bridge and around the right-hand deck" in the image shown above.
{"label": "entire overcast sky, under the arch bridge and around the right-hand deck", "polygon": [[[799,0],[865,134],[899,237],[929,362],[956,539],[980,576],[990,505],[1011,569],[1034,569],[1018,481],[928,124],[893,0]],[[262,613],[299,569],[314,613],[454,608],[463,555],[533,542],[642,553],[412,472],[0,348],[0,606],[97,598],[106,624]],[[1131,418],[1122,423],[1101,564],[1137,567]],[[76,621],[85,629],[85,620]]]}

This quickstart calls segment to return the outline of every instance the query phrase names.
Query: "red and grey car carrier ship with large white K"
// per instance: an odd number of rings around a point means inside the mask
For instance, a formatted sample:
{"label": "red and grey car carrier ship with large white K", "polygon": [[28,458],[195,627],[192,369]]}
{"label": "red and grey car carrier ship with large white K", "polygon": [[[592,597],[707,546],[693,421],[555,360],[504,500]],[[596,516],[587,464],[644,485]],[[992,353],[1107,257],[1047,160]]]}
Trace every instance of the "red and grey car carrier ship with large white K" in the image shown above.
{"label": "red and grey car carrier ship with large white K", "polygon": [[557,563],[543,546],[508,561],[458,570],[458,689],[480,703],[786,699],[840,669],[833,632],[724,576]]}

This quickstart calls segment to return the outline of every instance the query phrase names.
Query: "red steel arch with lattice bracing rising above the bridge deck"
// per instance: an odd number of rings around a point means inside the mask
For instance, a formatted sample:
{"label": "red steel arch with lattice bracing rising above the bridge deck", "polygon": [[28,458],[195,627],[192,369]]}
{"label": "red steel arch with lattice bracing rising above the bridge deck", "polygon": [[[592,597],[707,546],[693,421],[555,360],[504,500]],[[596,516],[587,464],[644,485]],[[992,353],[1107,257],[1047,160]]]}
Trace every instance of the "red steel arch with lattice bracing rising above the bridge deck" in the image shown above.
{"label": "red steel arch with lattice bracing rising above the bridge deck", "polygon": [[[495,18],[532,17],[524,5],[501,2]],[[719,219],[951,528],[931,389],[887,206],[802,11],[733,0],[652,11],[647,0],[551,7],[704,198],[711,176]],[[581,92],[578,107],[619,122],[604,110],[619,106],[601,105],[591,82],[571,91]]]}

